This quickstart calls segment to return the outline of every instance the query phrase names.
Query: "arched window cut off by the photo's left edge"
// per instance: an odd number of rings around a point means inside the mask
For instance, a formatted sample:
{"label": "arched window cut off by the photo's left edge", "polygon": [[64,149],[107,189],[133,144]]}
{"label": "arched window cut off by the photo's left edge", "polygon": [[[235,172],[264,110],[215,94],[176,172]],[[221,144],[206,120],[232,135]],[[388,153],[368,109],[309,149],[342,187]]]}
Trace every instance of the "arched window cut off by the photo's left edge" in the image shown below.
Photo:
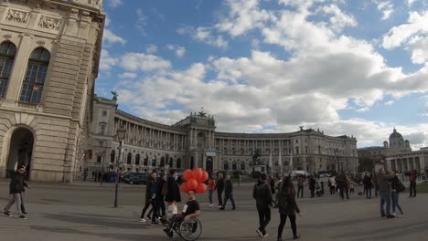
{"label": "arched window cut off by the photo's left edge", "polygon": [[5,42],[0,45],[0,99],[5,98],[15,54],[16,46],[11,42]]}

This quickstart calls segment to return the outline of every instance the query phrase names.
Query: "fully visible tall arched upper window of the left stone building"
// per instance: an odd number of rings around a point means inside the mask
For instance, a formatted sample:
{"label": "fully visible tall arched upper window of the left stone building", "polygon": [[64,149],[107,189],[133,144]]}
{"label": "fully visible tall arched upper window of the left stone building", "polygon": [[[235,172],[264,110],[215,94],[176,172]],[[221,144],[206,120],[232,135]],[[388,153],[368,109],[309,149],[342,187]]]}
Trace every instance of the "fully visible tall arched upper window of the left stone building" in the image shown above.
{"label": "fully visible tall arched upper window of the left stone building", "polygon": [[50,54],[43,47],[38,47],[31,53],[19,101],[30,103],[41,102],[49,60]]}

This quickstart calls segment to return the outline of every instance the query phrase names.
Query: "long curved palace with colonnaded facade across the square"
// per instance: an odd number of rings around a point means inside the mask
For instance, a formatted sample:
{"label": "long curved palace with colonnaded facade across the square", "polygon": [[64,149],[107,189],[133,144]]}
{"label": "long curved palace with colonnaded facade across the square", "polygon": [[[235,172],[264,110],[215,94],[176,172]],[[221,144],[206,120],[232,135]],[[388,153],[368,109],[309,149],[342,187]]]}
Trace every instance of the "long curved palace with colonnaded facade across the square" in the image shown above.
{"label": "long curved palace with colonnaded facade across the square", "polygon": [[[126,138],[120,168],[130,172],[174,168],[202,167],[213,173],[219,170],[251,173],[252,154],[261,152],[266,165],[272,153],[273,169],[279,172],[279,158],[284,171],[293,156],[294,170],[343,170],[355,173],[358,168],[357,140],[354,137],[327,136],[323,131],[300,128],[291,133],[229,133],[216,131],[215,120],[206,113],[191,113],[174,125],[147,121],[122,110],[115,100],[95,97],[93,120],[85,167],[100,170],[112,166],[119,156],[116,131],[124,127]],[[262,171],[265,170],[265,165]]]}

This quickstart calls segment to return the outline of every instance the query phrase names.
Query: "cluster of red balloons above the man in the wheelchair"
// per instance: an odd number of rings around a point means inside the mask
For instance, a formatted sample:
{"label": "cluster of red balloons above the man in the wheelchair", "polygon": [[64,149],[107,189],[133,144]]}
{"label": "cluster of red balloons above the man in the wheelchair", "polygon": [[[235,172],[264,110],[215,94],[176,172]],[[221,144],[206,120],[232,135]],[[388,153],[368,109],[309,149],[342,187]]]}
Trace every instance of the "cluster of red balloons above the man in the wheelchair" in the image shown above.
{"label": "cluster of red balloons above the man in the wheelchair", "polygon": [[209,174],[202,168],[195,168],[193,171],[186,169],[183,172],[183,177],[187,181],[181,184],[181,191],[188,193],[190,190],[195,190],[197,194],[203,194],[207,191],[205,181],[208,180]]}

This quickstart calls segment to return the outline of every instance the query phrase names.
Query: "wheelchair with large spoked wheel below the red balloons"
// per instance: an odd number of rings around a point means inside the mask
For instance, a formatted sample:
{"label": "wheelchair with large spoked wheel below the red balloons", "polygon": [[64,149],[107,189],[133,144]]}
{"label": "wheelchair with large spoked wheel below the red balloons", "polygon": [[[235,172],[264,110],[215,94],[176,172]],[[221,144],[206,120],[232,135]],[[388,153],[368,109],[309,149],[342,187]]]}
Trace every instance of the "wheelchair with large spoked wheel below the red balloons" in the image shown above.
{"label": "wheelchair with large spoked wheel below the red balloons", "polygon": [[172,226],[171,230],[183,240],[194,241],[202,234],[202,223],[198,218],[191,217],[187,221],[177,222]]}

